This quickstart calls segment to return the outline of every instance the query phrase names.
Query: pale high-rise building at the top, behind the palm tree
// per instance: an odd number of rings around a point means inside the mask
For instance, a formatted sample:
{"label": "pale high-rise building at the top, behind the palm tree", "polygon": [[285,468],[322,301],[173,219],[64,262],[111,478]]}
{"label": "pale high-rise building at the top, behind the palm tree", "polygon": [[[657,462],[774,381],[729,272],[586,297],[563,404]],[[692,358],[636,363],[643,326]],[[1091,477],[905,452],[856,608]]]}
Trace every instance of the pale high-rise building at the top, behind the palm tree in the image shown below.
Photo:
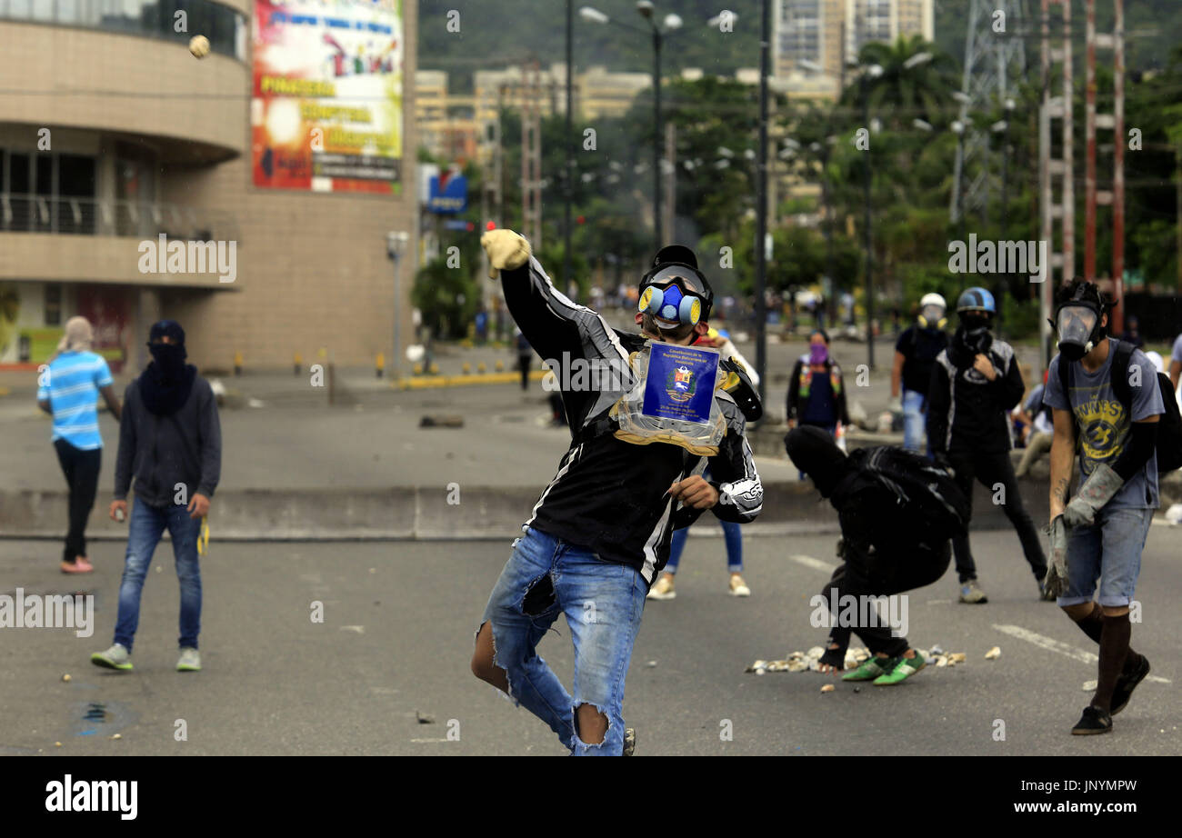
{"label": "pale high-rise building at the top, behind the palm tree", "polygon": [[916,34],[933,40],[934,14],[933,0],[779,0],[773,76],[782,80],[819,73],[838,80],[845,58],[871,41]]}

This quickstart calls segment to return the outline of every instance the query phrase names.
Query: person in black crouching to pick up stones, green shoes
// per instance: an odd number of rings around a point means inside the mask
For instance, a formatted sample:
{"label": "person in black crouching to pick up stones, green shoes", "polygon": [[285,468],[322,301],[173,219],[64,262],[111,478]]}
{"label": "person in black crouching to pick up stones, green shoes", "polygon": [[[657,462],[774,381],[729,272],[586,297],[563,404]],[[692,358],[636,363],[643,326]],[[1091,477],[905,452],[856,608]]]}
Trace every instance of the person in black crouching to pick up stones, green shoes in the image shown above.
{"label": "person in black crouching to pick up stones, green shoes", "polygon": [[[843,564],[820,597],[813,597],[814,604],[836,617],[821,623],[831,632],[820,671],[842,671],[850,634],[856,632],[871,657],[842,680],[898,684],[923,669],[923,656],[902,636],[905,629],[879,619],[876,608],[852,609],[857,616],[851,621],[850,605],[868,598],[882,602],[942,577],[950,560],[948,539],[963,534],[968,524],[968,501],[952,475],[914,452],[859,448],[846,456],[816,427],[788,431],[784,444],[795,467],[812,478],[821,498],[837,509],[842,525],[838,557]],[[863,621],[863,615],[869,619]]]}

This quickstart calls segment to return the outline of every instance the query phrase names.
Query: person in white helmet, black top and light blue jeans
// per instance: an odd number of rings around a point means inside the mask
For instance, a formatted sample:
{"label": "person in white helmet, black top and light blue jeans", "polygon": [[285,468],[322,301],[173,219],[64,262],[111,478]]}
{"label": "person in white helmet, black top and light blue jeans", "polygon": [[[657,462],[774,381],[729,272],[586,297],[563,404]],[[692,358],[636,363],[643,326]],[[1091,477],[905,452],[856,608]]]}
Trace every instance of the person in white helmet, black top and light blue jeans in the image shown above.
{"label": "person in white helmet, black top and light blue jeans", "polygon": [[[920,314],[895,342],[895,366],[890,373],[891,408],[903,411],[903,447],[918,452],[923,439],[924,412],[931,369],[936,357],[948,349],[948,303],[941,294],[924,294]],[[931,446],[928,446],[930,453]]]}

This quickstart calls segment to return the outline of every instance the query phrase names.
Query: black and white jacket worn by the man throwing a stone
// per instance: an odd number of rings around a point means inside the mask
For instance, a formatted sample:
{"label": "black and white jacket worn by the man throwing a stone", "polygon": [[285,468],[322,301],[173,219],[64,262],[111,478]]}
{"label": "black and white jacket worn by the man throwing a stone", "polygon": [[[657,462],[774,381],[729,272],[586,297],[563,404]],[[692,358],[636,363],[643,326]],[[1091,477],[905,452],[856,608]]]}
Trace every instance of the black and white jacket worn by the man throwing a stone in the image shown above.
{"label": "black and white jacket worn by the man throwing a stone", "polygon": [[[570,300],[554,288],[537,259],[501,271],[501,284],[513,319],[544,360],[583,368],[595,363],[612,370],[590,382],[556,370],[571,447],[522,528],[535,527],[585,546],[605,561],[636,569],[651,584],[669,558],[673,530],[689,526],[701,514],[675,511],[665,493],[675,480],[701,473],[706,463],[678,446],[635,446],[610,430],[604,433],[606,411],[635,383],[629,356],[647,338],[616,331],[598,313]],[[719,491],[713,512],[722,520],[751,521],[762,507],[764,487],[743,436],[746,421],[729,394],[715,390],[714,396],[727,434],[717,456],[709,457]]]}

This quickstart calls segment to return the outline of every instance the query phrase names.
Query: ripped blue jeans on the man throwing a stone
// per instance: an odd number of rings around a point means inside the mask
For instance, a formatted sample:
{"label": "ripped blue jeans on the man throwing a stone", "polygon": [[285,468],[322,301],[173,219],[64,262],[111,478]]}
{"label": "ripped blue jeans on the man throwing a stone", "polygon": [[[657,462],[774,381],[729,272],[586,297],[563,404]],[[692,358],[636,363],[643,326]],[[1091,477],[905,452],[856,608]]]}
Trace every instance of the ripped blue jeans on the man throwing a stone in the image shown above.
{"label": "ripped blue jeans on the man throwing a stone", "polygon": [[[558,734],[576,756],[619,756],[624,748],[624,676],[641,628],[648,585],[628,565],[530,530],[488,597],[481,625],[493,632],[495,665],[508,675],[513,700]],[[574,642],[574,695],[537,654],[538,642],[566,615]],[[574,730],[574,708],[592,704],[608,717],[602,743]]]}

